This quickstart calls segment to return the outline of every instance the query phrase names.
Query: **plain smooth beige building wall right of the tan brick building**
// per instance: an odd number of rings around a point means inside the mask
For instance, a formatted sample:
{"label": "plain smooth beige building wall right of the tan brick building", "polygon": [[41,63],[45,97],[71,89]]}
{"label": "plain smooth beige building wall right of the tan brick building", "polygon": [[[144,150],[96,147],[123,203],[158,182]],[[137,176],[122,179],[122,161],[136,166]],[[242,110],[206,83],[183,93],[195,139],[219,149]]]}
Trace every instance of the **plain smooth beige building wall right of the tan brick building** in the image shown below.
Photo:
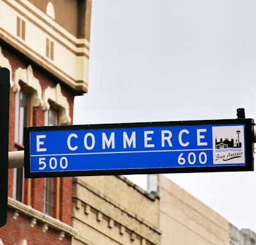
{"label": "plain smooth beige building wall right of the tan brick building", "polygon": [[164,175],[159,182],[161,245],[227,245],[229,224]]}

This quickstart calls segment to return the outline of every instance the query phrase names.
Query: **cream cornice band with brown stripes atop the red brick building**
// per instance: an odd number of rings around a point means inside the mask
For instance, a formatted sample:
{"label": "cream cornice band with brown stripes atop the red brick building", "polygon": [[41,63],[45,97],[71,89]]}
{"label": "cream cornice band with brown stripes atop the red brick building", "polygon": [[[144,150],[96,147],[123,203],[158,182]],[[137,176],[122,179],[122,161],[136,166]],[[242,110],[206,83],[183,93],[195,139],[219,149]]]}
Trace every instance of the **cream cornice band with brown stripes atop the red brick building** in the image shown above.
{"label": "cream cornice band with brown stripes atop the red brick building", "polygon": [[[51,73],[74,94],[87,93],[90,42],[68,33],[27,2],[0,1],[0,8],[6,13],[0,18],[0,40]],[[26,27],[24,37],[17,34],[17,18]],[[52,45],[52,57],[47,56],[47,41]]]}

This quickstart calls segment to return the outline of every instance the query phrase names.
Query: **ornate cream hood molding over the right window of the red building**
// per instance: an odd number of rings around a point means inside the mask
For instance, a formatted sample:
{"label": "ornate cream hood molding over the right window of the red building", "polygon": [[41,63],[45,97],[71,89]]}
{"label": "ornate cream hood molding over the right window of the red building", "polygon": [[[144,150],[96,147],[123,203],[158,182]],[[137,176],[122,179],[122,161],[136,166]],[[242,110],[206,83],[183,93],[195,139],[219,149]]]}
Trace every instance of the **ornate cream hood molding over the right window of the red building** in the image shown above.
{"label": "ornate cream hood molding over the right window of the red building", "polygon": [[57,84],[56,87],[47,87],[44,91],[43,101],[43,110],[49,110],[51,102],[60,108],[60,124],[70,123],[68,100],[61,93],[60,84]]}

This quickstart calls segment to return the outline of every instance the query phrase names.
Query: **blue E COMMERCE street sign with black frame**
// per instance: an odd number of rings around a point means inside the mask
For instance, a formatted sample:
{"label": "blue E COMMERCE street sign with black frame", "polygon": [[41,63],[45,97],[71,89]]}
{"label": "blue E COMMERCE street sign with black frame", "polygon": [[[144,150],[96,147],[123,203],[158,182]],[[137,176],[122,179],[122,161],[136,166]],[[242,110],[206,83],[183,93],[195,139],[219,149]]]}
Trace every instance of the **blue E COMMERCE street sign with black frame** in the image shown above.
{"label": "blue E COMMERCE street sign with black frame", "polygon": [[253,120],[24,128],[26,177],[253,170]]}

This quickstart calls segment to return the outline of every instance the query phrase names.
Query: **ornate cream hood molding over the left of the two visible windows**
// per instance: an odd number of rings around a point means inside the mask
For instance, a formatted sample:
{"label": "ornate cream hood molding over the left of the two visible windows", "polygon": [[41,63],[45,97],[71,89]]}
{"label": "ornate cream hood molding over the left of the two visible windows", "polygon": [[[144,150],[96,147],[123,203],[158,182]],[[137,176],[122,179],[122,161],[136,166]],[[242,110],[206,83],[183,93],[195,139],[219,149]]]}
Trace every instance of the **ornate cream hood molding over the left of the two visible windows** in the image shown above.
{"label": "ornate cream hood molding over the left of the two visible windows", "polygon": [[34,77],[32,66],[29,64],[27,69],[18,68],[14,73],[13,92],[20,91],[20,81],[33,91],[33,107],[43,105],[42,101],[42,87],[37,78]]}

